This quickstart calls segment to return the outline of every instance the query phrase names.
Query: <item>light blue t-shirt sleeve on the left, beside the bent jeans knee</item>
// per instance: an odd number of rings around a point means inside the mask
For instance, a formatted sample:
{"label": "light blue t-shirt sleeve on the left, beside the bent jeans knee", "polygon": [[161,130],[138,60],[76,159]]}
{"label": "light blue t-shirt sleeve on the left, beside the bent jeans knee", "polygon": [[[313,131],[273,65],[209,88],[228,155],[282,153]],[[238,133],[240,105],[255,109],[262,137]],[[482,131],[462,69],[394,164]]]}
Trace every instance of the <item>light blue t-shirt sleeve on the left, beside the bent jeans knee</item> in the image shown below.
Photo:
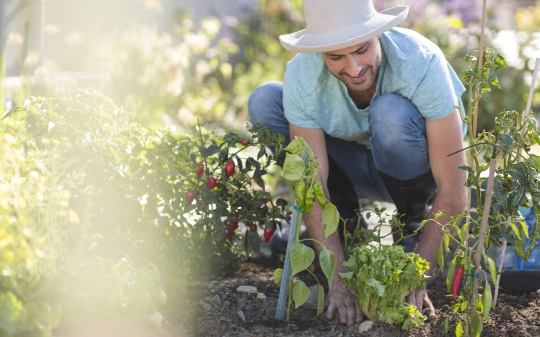
{"label": "light blue t-shirt sleeve on the left, beside the bent jeans knee", "polygon": [[287,67],[283,81],[283,108],[285,118],[289,123],[306,129],[318,129],[321,126],[306,112],[305,105],[299,94],[299,84],[292,78],[291,70]]}

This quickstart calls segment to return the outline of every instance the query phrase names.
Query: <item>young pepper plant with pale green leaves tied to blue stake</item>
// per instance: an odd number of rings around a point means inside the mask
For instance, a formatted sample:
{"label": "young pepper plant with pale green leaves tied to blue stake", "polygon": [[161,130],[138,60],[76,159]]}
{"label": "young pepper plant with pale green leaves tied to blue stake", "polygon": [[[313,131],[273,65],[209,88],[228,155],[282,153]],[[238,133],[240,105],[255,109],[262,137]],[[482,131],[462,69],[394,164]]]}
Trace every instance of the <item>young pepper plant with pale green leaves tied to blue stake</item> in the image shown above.
{"label": "young pepper plant with pale green leaves tied to blue stake", "polygon": [[[309,215],[313,208],[314,203],[318,203],[322,207],[322,229],[325,233],[325,239],[332,235],[338,228],[339,213],[335,205],[326,199],[326,196],[322,190],[321,183],[317,180],[316,169],[318,169],[319,163],[315,161],[316,157],[308,144],[302,137],[296,137],[285,148],[286,156],[283,165],[283,175],[285,180],[294,186],[294,197],[296,211],[300,212],[299,224],[302,219],[302,214]],[[307,156],[306,162],[302,159],[302,153]],[[291,276],[289,280],[289,293],[288,293],[288,305],[287,305],[287,320],[291,312],[291,304],[294,300],[295,308],[298,308],[306,302],[309,298],[309,288],[300,280],[298,274],[302,271],[307,271],[315,278],[318,284],[317,295],[317,314],[321,314],[324,310],[325,293],[319,279],[315,274],[308,269],[315,259],[314,250],[304,244],[307,240],[312,240],[315,243],[321,245],[322,250],[319,254],[319,262],[322,272],[328,279],[328,287],[332,285],[334,273],[338,260],[334,258],[334,253],[319,242],[312,238],[299,239],[300,226],[297,227],[296,233],[289,233],[289,235],[295,235],[295,240],[290,249],[291,255]],[[274,282],[276,284],[281,283],[281,277],[283,269],[278,268],[274,271]]]}

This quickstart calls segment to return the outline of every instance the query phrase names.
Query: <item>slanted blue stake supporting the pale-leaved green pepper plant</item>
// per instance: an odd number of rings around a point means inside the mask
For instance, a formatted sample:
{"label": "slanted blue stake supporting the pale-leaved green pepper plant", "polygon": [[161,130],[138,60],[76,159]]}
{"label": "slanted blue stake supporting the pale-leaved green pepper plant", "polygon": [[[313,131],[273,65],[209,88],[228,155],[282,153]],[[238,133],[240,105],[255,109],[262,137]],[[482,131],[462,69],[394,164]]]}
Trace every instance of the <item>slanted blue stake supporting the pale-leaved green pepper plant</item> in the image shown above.
{"label": "slanted blue stake supporting the pale-leaved green pepper plant", "polygon": [[[304,163],[307,161],[306,150],[302,150],[302,159]],[[275,311],[276,320],[284,320],[285,308],[287,306],[287,295],[289,292],[289,281],[291,281],[291,246],[296,241],[296,232],[300,222],[300,214],[302,211],[294,201],[293,215],[291,217],[291,226],[289,228],[289,240],[287,242],[287,251],[285,252],[285,263],[283,265],[283,274],[281,276],[281,286],[279,288],[278,308]]]}

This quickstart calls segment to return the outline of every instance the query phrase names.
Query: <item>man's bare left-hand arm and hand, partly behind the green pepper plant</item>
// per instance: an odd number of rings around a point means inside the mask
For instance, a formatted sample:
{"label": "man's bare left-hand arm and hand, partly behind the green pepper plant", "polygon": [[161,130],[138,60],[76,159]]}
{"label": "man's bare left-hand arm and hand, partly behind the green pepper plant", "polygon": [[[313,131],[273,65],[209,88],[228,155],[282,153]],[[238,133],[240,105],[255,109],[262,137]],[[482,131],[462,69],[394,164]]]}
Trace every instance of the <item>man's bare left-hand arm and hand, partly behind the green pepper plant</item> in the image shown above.
{"label": "man's bare left-hand arm and hand, partly behind the green pepper plant", "polygon": [[[321,182],[325,196],[330,200],[328,193],[328,153],[326,151],[325,133],[322,129],[306,129],[299,126],[295,126],[289,123],[289,133],[291,139],[294,136],[302,136],[312,149],[313,154],[317,157],[316,161],[319,162],[320,168],[317,170],[317,179]],[[354,322],[361,322],[363,320],[362,311],[360,305],[354,295],[348,290],[343,288],[339,273],[348,272],[346,267],[341,264],[345,261],[345,255],[341,247],[338,232],[334,232],[327,239],[325,239],[324,230],[322,229],[322,208],[318,203],[313,203],[313,208],[309,216],[305,218],[307,230],[309,236],[315,240],[318,240],[327,249],[334,252],[334,257],[338,259],[338,267],[332,283],[332,288],[329,291],[329,305],[326,317],[332,319],[334,317],[334,311],[338,310],[340,321],[342,324],[351,326]],[[315,251],[319,255],[322,247],[319,244],[314,244]]]}

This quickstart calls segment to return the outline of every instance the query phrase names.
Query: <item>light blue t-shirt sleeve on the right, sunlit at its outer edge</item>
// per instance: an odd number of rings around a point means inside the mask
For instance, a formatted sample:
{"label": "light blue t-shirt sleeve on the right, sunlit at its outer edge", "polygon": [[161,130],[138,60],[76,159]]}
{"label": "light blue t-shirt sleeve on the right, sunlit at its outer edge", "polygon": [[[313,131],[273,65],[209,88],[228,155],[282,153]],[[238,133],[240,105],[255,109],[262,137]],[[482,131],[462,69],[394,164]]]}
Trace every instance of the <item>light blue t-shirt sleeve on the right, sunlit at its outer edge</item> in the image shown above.
{"label": "light blue t-shirt sleeve on the right, sunlit at its outer edge", "polygon": [[461,105],[465,87],[446,59],[433,54],[429,66],[414,90],[411,101],[426,119],[441,119],[452,113],[455,105]]}

